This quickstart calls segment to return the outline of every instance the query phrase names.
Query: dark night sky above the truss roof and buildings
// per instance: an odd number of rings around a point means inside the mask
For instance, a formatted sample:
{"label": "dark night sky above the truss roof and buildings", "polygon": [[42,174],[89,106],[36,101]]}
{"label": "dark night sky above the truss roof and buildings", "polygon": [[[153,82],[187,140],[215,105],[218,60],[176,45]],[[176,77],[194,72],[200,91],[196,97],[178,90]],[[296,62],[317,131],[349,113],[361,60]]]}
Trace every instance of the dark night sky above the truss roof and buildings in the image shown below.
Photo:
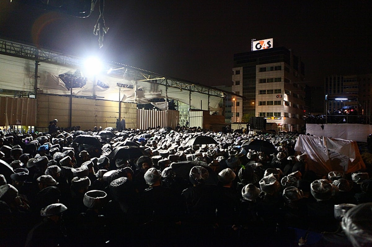
{"label": "dark night sky above the truss roof and buildings", "polygon": [[0,37],[209,86],[231,85],[233,55],[250,51],[252,38],[292,48],[309,84],[330,74],[372,73],[371,1],[319,3],[106,0],[110,29],[99,50],[98,6],[77,18],[0,0]]}

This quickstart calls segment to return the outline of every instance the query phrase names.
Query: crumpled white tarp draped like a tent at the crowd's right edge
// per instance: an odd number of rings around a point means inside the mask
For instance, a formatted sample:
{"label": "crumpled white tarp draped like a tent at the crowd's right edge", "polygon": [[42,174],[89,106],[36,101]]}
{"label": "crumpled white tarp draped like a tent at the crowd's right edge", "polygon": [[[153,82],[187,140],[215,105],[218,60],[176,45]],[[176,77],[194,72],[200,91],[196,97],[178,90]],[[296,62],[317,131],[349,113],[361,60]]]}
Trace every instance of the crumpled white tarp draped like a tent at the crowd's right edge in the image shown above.
{"label": "crumpled white tarp draped like a tent at the crowd's right edge", "polygon": [[355,141],[299,135],[295,151],[308,155],[308,169],[326,175],[330,171],[356,172],[366,169]]}

